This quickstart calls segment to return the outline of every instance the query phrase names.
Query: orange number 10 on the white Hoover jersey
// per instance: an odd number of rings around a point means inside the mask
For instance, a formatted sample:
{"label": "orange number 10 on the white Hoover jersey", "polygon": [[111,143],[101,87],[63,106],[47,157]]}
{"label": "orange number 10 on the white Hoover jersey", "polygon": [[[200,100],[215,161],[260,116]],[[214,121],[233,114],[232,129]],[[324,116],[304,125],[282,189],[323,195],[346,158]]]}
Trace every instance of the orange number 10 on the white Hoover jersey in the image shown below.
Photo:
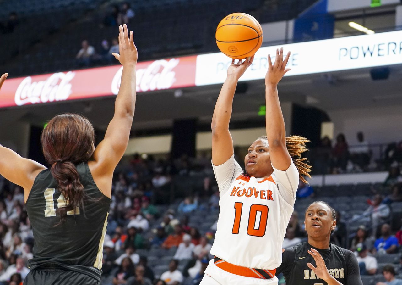
{"label": "orange number 10 on the white Hoover jersey", "polygon": [[[240,222],[243,211],[243,203],[234,203],[234,223],[232,233],[237,235],[240,229]],[[252,204],[250,207],[250,213],[248,215],[247,234],[255,237],[263,237],[265,230],[267,229],[268,219],[268,206],[260,204]],[[258,222],[259,219],[259,222]]]}

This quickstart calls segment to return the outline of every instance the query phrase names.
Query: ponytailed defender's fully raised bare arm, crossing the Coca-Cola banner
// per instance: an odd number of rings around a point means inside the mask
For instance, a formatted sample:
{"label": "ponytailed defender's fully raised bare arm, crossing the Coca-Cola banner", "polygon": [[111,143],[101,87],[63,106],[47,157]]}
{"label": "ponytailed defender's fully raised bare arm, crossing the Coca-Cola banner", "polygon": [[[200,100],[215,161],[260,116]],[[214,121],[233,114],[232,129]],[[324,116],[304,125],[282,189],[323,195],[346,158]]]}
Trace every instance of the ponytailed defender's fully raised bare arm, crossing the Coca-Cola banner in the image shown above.
{"label": "ponytailed defender's fully raised bare arm, crossing the Coca-Cola banner", "polygon": [[[105,139],[92,155],[95,165],[91,171],[95,176],[106,177],[108,180],[127,148],[136,97],[137,48],[134,45],[133,32],[130,31],[129,35],[127,25],[120,26],[119,31],[119,54],[113,53],[113,56],[123,65],[123,72],[115,102],[115,114],[107,127]],[[110,196],[111,187],[105,190],[107,193],[104,194]]]}

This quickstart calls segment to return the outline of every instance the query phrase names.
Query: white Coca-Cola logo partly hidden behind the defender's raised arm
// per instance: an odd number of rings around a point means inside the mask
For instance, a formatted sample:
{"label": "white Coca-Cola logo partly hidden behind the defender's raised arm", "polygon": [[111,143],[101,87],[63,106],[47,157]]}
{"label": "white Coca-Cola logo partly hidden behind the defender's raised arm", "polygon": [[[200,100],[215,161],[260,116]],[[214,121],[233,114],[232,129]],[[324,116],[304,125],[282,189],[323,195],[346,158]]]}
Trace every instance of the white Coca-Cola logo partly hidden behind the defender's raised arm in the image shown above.
{"label": "white Coca-Cola logo partly hidden behind the defender's raised arm", "polygon": [[[177,58],[170,60],[155,60],[146,68],[137,69],[137,91],[153,91],[169,89],[176,81],[176,72],[173,69],[180,62]],[[120,89],[121,72],[123,67],[117,70],[112,80],[112,93],[117,95]]]}

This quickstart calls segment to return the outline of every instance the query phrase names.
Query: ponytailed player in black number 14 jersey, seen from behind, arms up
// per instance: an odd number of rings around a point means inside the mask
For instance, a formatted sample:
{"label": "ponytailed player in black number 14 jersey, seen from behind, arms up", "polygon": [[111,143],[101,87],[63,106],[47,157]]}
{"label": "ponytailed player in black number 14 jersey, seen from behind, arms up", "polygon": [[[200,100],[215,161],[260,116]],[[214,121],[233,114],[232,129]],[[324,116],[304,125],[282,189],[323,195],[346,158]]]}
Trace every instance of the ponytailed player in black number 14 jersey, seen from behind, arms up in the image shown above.
{"label": "ponytailed player in black number 14 jersey, seen from behind, arms up", "polygon": [[[94,128],[77,114],[52,118],[41,135],[50,169],[0,146],[0,175],[20,185],[35,238],[25,285],[99,285],[113,171],[133,122],[137,48],[133,32],[119,27],[123,65],[115,114],[94,148]],[[6,76],[0,79],[0,87]]]}

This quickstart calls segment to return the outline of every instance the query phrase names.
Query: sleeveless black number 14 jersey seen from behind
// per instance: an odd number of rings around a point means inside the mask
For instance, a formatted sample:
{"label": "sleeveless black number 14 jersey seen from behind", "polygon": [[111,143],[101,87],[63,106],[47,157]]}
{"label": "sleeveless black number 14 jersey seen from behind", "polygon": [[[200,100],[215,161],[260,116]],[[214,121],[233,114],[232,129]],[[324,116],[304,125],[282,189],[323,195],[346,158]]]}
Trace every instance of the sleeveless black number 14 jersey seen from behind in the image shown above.
{"label": "sleeveless black number 14 jersey seen from behind", "polygon": [[66,205],[57,189],[57,182],[49,169],[41,171],[35,178],[26,202],[33,236],[33,258],[29,266],[54,263],[66,267],[88,268],[99,272],[102,268],[103,242],[106,234],[110,198],[96,186],[88,163],[76,165],[80,182],[88,199],[83,207],[67,213],[66,221],[57,225],[60,218],[56,209]]}

